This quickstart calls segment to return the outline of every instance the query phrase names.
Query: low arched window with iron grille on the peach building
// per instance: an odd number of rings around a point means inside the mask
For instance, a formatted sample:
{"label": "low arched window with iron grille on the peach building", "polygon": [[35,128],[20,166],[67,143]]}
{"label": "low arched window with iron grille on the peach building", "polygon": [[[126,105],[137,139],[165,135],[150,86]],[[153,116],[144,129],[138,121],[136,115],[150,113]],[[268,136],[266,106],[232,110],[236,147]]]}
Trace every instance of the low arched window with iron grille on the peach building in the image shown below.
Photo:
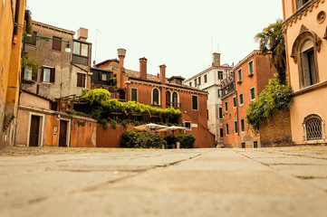
{"label": "low arched window with iron grille on the peach building", "polygon": [[304,118],[303,127],[305,134],[304,140],[316,140],[325,137],[322,130],[323,121],[318,115],[309,115]]}

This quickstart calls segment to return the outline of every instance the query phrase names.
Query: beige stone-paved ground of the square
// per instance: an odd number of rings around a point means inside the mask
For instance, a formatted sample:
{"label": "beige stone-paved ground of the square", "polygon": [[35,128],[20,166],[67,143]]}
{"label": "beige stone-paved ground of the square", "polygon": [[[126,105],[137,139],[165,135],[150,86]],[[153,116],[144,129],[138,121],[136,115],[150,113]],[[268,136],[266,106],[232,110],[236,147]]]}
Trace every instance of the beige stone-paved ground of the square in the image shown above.
{"label": "beige stone-paved ground of the square", "polygon": [[327,216],[327,146],[0,151],[0,216]]}

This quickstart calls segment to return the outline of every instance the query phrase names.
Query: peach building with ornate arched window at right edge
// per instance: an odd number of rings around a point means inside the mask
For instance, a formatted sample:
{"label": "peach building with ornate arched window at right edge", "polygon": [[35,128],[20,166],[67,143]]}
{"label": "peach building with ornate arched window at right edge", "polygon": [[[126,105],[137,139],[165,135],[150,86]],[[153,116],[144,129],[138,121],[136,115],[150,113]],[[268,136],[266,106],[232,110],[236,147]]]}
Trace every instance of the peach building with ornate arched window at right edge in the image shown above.
{"label": "peach building with ornate arched window at right edge", "polygon": [[283,0],[284,33],[295,144],[327,143],[327,3]]}

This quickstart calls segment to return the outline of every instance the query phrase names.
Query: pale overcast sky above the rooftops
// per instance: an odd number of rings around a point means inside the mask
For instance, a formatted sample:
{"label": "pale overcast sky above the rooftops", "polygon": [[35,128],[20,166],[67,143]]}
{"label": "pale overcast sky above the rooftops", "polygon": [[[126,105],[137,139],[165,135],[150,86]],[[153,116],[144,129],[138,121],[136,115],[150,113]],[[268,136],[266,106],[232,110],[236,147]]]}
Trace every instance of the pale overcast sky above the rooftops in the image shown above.
{"label": "pale overcast sky above the rooftops", "polygon": [[241,61],[258,49],[255,34],[283,18],[282,0],[27,0],[27,5],[35,21],[76,33],[89,29],[92,61],[118,58],[117,49],[124,48],[126,69],[139,71],[139,58],[146,57],[148,73],[166,64],[167,77],[187,79],[211,65],[212,52],[221,53],[222,64]]}

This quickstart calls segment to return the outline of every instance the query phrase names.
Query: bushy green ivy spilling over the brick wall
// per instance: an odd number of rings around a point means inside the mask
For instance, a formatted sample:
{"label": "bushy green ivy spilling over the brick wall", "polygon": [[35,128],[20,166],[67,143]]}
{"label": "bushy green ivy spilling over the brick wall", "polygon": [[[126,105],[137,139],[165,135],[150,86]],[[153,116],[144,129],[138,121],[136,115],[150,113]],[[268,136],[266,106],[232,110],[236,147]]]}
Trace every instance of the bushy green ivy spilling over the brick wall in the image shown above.
{"label": "bushy green ivy spilling over the brick wall", "polygon": [[247,122],[254,130],[259,130],[260,121],[269,118],[274,110],[288,109],[293,100],[293,90],[287,84],[280,84],[277,75],[269,80],[265,89],[259,93],[258,99],[246,109]]}

